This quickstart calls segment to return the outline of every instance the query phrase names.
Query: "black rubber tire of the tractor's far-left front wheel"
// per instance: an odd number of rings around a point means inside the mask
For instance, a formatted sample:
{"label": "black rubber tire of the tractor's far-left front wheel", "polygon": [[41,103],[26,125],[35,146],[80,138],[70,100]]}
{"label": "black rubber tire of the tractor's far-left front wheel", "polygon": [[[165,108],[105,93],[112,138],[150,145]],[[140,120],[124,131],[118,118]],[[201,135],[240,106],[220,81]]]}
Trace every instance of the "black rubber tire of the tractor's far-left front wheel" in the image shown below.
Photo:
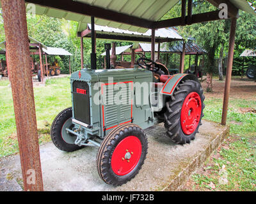
{"label": "black rubber tire of the tractor's far-left front wheel", "polygon": [[73,152],[75,150],[79,150],[83,148],[83,146],[79,147],[78,145],[72,145],[66,143],[61,136],[61,128],[63,124],[72,117],[72,108],[66,108],[61,111],[56,118],[52,122],[51,126],[51,139],[54,145],[65,152]]}

